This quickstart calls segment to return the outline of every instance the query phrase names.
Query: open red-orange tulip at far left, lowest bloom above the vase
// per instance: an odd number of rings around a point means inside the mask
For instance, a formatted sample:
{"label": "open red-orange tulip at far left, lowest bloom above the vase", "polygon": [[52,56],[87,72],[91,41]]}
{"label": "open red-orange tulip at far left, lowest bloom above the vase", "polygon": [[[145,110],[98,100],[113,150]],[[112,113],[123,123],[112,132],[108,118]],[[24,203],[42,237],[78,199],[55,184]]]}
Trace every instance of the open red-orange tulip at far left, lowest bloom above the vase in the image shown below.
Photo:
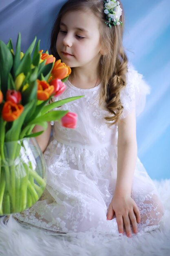
{"label": "open red-orange tulip at far left, lowest bloom above the vase", "polygon": [[12,122],[22,114],[23,110],[24,107],[22,105],[6,101],[2,108],[2,119]]}

